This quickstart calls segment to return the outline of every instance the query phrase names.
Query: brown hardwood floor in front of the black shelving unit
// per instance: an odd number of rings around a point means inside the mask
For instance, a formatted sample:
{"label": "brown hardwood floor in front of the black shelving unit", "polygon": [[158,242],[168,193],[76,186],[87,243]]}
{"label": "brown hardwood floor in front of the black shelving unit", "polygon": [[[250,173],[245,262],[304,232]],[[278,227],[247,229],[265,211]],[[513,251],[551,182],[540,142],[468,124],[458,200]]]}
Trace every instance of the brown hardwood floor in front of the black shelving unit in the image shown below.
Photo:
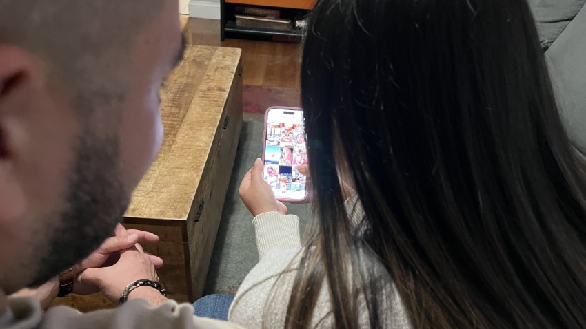
{"label": "brown hardwood floor in front of the black shelving unit", "polygon": [[226,39],[220,41],[220,21],[182,17],[187,41],[192,45],[214,45],[242,49],[243,84],[299,88],[301,48],[299,43]]}

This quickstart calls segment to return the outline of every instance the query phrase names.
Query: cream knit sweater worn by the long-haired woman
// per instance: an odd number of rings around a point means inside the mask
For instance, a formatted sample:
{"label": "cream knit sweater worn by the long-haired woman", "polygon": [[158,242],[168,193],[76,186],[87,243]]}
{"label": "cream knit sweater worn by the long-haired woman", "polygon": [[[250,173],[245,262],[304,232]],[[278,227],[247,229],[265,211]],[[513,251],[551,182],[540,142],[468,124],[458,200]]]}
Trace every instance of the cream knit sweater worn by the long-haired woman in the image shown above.
{"label": "cream knit sweater worn by the long-haired woman", "polygon": [[[354,199],[355,201],[355,199]],[[351,216],[352,217],[352,216]],[[230,307],[229,320],[245,328],[283,328],[289,298],[294,291],[294,279],[299,268],[301,239],[299,217],[281,213],[263,213],[252,221],[259,249],[259,263],[248,273]],[[290,269],[286,272],[288,266]],[[281,275],[279,282],[277,278]],[[330,297],[324,282],[314,310],[312,327],[332,328]],[[401,297],[394,284],[381,290],[385,303],[381,314],[386,315],[389,328],[410,328]],[[270,305],[267,305],[270,301]],[[369,328],[363,296],[358,296],[360,325]]]}

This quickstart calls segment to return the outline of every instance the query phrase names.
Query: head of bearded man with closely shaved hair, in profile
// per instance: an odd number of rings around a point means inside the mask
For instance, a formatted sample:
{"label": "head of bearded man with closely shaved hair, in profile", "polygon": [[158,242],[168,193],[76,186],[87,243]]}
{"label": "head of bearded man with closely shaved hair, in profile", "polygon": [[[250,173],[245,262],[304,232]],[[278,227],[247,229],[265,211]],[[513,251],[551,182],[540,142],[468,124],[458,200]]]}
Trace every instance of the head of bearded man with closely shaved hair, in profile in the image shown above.
{"label": "head of bearded man with closely shaved hair, in profile", "polygon": [[176,1],[0,0],[0,289],[112,234],[162,138]]}

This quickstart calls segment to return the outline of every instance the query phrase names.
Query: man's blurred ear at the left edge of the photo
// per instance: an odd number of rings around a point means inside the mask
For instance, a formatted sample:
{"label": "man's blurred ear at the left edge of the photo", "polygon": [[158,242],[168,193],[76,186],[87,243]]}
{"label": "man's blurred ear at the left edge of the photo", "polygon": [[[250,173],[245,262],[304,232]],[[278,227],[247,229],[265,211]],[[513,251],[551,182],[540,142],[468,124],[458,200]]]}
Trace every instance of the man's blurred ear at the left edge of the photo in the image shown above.
{"label": "man's blurred ear at the left edge of the photo", "polygon": [[34,97],[36,70],[39,63],[28,52],[0,45],[0,224],[21,217],[26,208],[18,175],[18,145],[26,138],[20,118]]}

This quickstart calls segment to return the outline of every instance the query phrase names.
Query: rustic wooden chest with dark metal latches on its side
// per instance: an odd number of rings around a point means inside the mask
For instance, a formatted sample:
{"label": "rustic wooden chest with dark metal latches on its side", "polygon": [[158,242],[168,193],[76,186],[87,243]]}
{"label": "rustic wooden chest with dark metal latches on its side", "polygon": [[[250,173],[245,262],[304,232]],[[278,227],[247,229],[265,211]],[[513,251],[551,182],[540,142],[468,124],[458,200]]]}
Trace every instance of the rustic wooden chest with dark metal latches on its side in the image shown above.
{"label": "rustic wooden chest with dark metal latches on its side", "polygon": [[[161,151],[132,195],[129,229],[161,237],[168,297],[201,297],[242,126],[241,50],[188,46],[161,94]],[[58,299],[81,311],[108,308],[100,294]]]}

